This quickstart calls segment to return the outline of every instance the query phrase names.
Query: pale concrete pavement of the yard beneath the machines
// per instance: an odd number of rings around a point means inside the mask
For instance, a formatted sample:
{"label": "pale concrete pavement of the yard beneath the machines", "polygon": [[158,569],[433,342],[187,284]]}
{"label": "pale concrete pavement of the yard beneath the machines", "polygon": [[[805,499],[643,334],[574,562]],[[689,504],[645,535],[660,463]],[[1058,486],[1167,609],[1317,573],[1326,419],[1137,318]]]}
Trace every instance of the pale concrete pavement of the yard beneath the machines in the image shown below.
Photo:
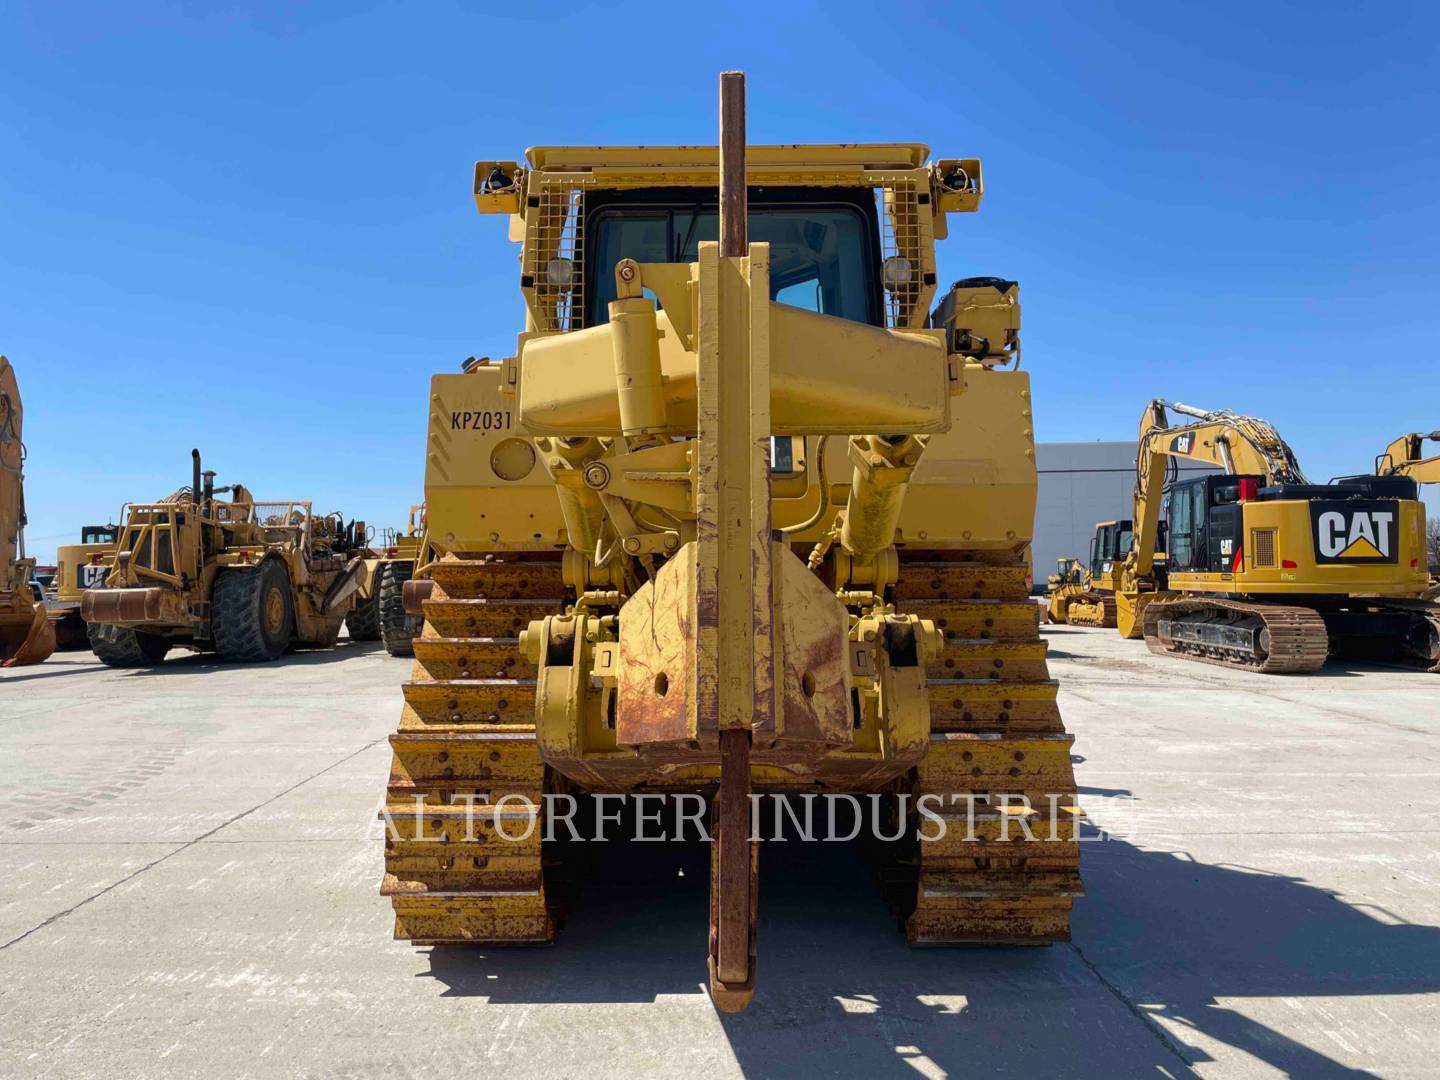
{"label": "pale concrete pavement of the yard beneath the machines", "polygon": [[0,1074],[1433,1076],[1440,681],[1047,638],[1115,832],[1073,943],[910,950],[848,845],[768,845],[734,1017],[698,844],[608,845],[553,949],[389,940],[406,661],[3,672]]}

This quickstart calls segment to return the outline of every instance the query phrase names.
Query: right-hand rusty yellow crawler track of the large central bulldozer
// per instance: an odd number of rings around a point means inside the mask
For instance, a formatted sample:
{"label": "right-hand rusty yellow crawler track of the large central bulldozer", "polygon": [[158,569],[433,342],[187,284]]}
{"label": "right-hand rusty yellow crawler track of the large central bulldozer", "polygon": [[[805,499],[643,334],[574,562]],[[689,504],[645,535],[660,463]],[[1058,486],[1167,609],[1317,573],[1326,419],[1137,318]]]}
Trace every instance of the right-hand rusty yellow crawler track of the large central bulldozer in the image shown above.
{"label": "right-hand rusty yellow crawler track of the large central bulldozer", "polygon": [[[1060,719],[1025,563],[907,552],[893,599],[896,611],[933,619],[945,632],[927,671],[930,747],[913,793],[942,796],[946,831],[912,857],[906,937],[912,945],[1068,940],[1071,899],[1083,891],[1073,736]],[[992,804],[976,799],[971,814],[973,796]],[[1008,811],[994,805],[998,796],[1008,796]],[[936,832],[919,824],[926,835]]]}

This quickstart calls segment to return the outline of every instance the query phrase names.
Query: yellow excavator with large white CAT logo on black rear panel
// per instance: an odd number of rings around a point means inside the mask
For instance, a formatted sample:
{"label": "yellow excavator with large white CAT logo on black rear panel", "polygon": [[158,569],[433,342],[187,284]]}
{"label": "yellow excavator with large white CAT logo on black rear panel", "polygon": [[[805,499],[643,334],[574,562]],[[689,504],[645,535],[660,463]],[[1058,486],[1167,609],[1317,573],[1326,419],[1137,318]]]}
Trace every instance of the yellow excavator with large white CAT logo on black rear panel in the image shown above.
{"label": "yellow excavator with large white CAT logo on black rear panel", "polygon": [[[1192,422],[1172,426],[1169,412]],[[1221,472],[1166,487],[1179,458]],[[1410,477],[1312,484],[1269,422],[1156,399],[1140,419],[1133,520],[1119,629],[1152,652],[1260,672],[1316,671],[1331,654],[1440,665]]]}

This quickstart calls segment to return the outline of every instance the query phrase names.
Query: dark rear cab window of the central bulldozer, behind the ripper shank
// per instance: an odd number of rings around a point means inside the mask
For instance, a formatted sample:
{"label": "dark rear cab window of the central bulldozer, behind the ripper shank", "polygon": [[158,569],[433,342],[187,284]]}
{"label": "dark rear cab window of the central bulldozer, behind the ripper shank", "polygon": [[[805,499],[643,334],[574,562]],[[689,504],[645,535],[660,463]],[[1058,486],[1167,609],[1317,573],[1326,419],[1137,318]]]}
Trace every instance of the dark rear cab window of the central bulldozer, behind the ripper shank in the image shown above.
{"label": "dark rear cab window of the central bulldozer, behind the ripper shank", "polygon": [[[713,197],[713,196],[711,196]],[[770,300],[857,323],[881,324],[874,228],[858,203],[750,204],[750,242],[770,245]],[[694,262],[701,240],[720,236],[713,204],[616,204],[589,229],[593,262],[586,325],[609,321],[615,264]]]}

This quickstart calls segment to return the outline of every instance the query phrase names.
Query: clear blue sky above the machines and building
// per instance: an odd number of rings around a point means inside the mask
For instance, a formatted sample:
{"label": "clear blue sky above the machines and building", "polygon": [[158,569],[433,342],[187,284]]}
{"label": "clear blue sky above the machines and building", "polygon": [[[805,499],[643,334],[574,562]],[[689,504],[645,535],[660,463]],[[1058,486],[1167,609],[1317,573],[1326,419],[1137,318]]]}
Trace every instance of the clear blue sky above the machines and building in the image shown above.
{"label": "clear blue sky above the machines and building", "polygon": [[403,521],[429,374],[520,324],[472,161],[713,141],[726,68],[755,143],[985,161],[942,278],[1021,281],[1043,441],[1165,396],[1267,416],[1325,478],[1440,428],[1433,6],[690,7],[0,0],[32,550],[187,482],[192,445]]}

